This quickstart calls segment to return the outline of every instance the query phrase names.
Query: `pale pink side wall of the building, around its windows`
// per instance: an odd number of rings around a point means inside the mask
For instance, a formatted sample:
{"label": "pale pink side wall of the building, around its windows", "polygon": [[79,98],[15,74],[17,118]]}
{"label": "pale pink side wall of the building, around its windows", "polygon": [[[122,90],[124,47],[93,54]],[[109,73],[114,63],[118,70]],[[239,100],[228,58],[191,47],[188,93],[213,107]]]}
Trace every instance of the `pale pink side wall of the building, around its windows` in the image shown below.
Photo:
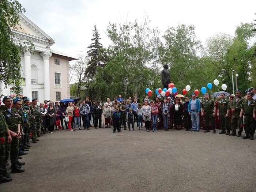
{"label": "pale pink side wall of the building, around its windows", "polygon": [[[60,60],[60,65],[54,64],[54,59]],[[61,99],[69,98],[69,78],[67,76],[68,60],[56,54],[52,54],[49,59],[50,67],[50,98],[51,101],[56,101],[56,91],[61,92]],[[54,73],[61,74],[61,88],[55,86]]]}

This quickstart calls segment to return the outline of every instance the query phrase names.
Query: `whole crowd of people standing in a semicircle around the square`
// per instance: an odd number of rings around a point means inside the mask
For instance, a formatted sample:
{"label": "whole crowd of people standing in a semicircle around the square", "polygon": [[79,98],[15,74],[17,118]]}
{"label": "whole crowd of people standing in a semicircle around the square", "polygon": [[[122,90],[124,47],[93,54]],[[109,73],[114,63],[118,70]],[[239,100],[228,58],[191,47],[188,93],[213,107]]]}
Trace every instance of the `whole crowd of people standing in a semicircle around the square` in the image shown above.
{"label": "whole crowd of people standing in a semicircle around the square", "polygon": [[[242,137],[253,140],[255,133],[255,89],[246,90],[245,97],[241,96],[240,90],[228,98],[225,92],[214,100],[210,94],[204,94],[199,100],[196,93],[191,98],[164,97],[158,95],[154,100],[146,96],[142,103],[136,95],[123,99],[121,95],[110,98],[100,105],[100,102],[90,101],[89,97],[79,103],[59,103],[45,100],[38,105],[37,98],[31,101],[27,97],[5,96],[0,107],[0,183],[11,181],[6,166],[8,158],[11,162],[11,173],[20,173],[25,170],[19,162],[22,155],[27,155],[33,143],[39,141],[41,134],[53,133],[55,130],[69,131],[87,129],[90,127],[111,128],[113,133],[124,130],[135,131],[135,122],[138,130],[143,128],[149,132],[156,132],[163,128],[165,131],[176,130],[199,132],[204,129],[205,133],[216,128],[222,129],[219,134]],[[49,104],[48,104],[49,103]],[[0,99],[1,104],[1,99]],[[144,123],[144,127],[143,127]],[[238,134],[236,129],[238,129]]]}

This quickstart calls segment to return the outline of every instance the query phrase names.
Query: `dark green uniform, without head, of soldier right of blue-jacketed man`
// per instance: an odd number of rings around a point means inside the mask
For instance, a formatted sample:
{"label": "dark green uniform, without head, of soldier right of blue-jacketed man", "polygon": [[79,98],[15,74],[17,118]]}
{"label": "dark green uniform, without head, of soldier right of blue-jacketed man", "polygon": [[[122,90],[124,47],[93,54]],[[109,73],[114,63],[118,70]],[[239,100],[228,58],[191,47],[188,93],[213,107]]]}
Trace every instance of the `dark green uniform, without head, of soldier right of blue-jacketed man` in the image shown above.
{"label": "dark green uniform, without head, of soldier right of blue-jacketed man", "polygon": [[211,121],[211,126],[213,130],[216,130],[215,128],[215,120],[213,114],[213,109],[216,108],[215,101],[212,99],[209,99],[208,101],[204,100],[202,102],[201,108],[204,110],[204,120],[206,123],[207,130],[210,130],[210,121]]}

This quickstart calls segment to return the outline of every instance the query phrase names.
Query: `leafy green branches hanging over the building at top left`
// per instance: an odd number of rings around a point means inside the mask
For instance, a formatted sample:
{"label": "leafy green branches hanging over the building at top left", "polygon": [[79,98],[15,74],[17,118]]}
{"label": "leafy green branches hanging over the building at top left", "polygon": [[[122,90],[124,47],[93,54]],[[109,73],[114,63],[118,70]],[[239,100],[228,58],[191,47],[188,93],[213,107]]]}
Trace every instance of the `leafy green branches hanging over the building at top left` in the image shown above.
{"label": "leafy green branches hanging over the building at top left", "polygon": [[0,79],[5,86],[13,84],[16,94],[20,93],[20,53],[33,51],[31,41],[16,38],[14,31],[21,28],[18,13],[25,9],[18,0],[0,1]]}

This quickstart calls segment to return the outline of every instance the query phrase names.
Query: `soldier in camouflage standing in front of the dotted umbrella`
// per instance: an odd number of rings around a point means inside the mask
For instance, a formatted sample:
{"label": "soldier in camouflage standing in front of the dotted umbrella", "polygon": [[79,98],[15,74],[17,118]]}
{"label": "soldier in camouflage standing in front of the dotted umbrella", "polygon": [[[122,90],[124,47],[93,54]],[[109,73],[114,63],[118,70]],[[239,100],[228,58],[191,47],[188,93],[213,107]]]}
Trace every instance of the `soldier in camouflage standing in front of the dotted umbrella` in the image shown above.
{"label": "soldier in camouflage standing in front of the dotted umbrella", "polygon": [[[225,93],[221,93],[221,99],[219,100],[217,115],[221,122],[222,131],[219,134],[230,134],[230,124],[229,124],[229,111],[230,111],[230,101],[225,98]],[[227,129],[227,132],[226,132]]]}

